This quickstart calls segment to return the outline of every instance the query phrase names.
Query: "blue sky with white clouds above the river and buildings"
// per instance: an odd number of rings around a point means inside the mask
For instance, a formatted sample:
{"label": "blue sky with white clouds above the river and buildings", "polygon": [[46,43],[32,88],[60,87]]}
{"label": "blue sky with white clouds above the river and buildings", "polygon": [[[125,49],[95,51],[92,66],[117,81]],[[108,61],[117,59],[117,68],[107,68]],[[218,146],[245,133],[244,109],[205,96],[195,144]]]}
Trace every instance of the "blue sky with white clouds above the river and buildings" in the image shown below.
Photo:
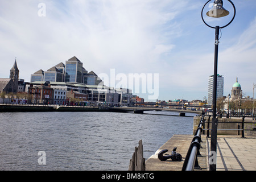
{"label": "blue sky with white clouds above the river and buildings", "polygon": [[[115,81],[107,86],[120,83],[117,75],[126,75],[127,83],[129,74],[146,76],[146,91],[141,88],[134,93],[145,100],[152,99],[148,95],[153,91],[159,100],[203,100],[213,75],[215,39],[214,28],[201,19],[206,2],[0,1],[0,77],[9,77],[15,57],[19,78],[30,82],[31,74],[39,69],[47,71],[76,56],[88,72]],[[203,11],[205,22],[224,26],[232,19],[233,7],[224,0],[229,16],[209,18],[205,14],[212,2]],[[238,77],[244,95],[253,97],[256,1],[233,3],[236,17],[220,33],[218,74],[224,76],[224,96],[231,93]],[[135,92],[135,86],[131,87]]]}

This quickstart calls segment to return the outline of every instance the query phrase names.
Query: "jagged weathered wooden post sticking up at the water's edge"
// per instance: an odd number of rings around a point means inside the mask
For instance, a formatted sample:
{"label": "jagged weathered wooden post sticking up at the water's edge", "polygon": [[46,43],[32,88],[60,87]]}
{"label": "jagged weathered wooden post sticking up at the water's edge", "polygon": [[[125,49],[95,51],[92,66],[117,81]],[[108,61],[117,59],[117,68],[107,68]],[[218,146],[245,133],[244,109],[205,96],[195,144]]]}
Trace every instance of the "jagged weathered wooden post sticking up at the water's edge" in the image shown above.
{"label": "jagged weathered wooden post sticking up at the water's edge", "polygon": [[145,171],[145,159],[143,158],[143,145],[142,140],[139,140],[139,146],[135,147],[128,171]]}

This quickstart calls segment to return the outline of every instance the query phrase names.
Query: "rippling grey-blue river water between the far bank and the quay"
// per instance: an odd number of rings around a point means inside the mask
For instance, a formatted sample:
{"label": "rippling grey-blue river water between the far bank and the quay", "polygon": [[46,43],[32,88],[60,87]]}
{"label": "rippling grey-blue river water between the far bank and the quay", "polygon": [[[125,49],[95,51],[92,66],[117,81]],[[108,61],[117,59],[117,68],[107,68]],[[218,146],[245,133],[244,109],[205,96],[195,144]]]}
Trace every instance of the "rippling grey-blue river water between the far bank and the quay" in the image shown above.
{"label": "rippling grey-blue river water between the far bank and the quay", "polygon": [[193,117],[145,113],[0,113],[0,170],[126,171],[139,140],[148,159],[172,135],[193,133]]}

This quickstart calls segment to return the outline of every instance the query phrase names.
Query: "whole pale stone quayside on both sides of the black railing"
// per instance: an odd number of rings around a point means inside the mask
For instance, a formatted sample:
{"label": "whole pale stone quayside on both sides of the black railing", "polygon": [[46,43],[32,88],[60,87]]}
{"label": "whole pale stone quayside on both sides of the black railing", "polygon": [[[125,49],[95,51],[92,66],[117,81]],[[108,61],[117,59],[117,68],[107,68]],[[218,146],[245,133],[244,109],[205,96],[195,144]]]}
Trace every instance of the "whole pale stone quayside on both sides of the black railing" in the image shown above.
{"label": "whole pale stone quayside on both sides of the black railing", "polygon": [[[174,135],[170,140],[163,144],[146,161],[147,171],[181,171],[188,147],[193,135]],[[201,169],[195,171],[209,171],[208,154],[210,151],[210,138],[207,135],[201,135],[201,149],[198,162]],[[177,153],[183,156],[181,162],[160,161],[158,153],[161,150],[168,149],[168,154],[174,147],[177,147]],[[240,135],[218,135],[217,136],[217,171],[255,171],[256,170],[256,137],[241,138]]]}

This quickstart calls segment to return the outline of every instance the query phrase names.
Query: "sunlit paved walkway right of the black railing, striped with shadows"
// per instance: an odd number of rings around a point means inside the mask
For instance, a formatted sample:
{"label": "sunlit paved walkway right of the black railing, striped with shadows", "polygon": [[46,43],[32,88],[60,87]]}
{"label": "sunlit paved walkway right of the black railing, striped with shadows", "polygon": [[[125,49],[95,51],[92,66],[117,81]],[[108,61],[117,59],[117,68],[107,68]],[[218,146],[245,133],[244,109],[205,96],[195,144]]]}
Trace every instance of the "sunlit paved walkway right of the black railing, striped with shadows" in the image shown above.
{"label": "sunlit paved walkway right of the black railing, striped with shadows", "polygon": [[[204,135],[202,138],[209,153],[210,138]],[[217,171],[256,171],[256,137],[217,135],[216,168]]]}

